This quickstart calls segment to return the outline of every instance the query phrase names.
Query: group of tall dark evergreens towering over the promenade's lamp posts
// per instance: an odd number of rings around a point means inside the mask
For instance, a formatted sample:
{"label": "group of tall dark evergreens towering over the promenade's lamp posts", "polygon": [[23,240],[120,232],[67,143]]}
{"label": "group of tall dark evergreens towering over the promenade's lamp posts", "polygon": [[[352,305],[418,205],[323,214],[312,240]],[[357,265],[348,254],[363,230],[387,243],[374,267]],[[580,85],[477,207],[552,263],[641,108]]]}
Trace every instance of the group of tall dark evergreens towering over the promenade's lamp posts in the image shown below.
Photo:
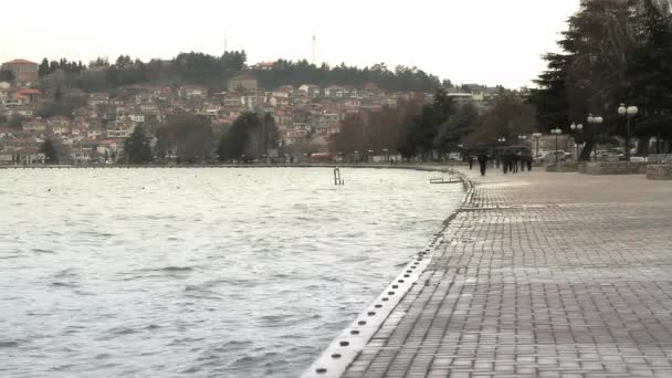
{"label": "group of tall dark evergreens towering over the promenade's lamp posts", "polygon": [[[545,56],[548,70],[536,80],[529,103],[549,129],[584,123],[589,113],[605,118],[586,125],[581,158],[601,134],[626,134],[617,115],[620,103],[637,105],[634,135],[672,138],[672,15],[654,0],[582,1],[558,42],[561,53]],[[582,139],[582,140],[581,140]],[[640,144],[642,148],[648,143]],[[642,150],[642,153],[645,153]]]}

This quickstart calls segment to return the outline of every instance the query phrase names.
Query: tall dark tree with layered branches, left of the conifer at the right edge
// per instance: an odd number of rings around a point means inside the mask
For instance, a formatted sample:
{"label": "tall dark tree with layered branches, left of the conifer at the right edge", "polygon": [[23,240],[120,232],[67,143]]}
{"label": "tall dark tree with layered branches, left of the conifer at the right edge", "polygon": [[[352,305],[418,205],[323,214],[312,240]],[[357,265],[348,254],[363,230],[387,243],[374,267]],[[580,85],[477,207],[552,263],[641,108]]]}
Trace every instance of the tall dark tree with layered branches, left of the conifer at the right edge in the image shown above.
{"label": "tall dark tree with layered branches, left of the conifer at the right edge", "polygon": [[[580,10],[569,18],[568,30],[558,42],[560,54],[547,54],[548,70],[539,75],[528,103],[536,107],[542,129],[585,123],[589,113],[607,115],[624,98],[626,71],[633,48],[633,25],[638,0],[581,1]],[[598,133],[619,123],[605,117],[597,125],[586,125],[577,139],[586,141],[581,159],[589,157]]]}

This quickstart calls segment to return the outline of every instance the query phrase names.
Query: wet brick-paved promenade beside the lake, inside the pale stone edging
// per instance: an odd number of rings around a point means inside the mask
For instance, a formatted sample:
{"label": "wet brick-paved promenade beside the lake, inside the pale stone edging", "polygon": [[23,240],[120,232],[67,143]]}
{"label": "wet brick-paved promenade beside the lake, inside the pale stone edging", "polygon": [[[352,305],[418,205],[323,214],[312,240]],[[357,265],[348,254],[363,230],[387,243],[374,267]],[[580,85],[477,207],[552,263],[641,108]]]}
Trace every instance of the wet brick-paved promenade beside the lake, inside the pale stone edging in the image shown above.
{"label": "wet brick-paved promenade beside the lake, inside the pale stone edging", "polygon": [[343,377],[672,377],[672,183],[474,172]]}

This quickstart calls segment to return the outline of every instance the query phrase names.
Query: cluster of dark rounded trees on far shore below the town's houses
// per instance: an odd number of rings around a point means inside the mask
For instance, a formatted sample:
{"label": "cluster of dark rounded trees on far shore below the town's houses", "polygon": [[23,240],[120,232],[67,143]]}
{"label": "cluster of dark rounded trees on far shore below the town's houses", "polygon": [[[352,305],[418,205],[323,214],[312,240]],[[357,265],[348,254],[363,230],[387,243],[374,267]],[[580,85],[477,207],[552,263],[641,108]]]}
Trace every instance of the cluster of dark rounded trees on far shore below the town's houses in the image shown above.
{"label": "cluster of dark rounded trees on far shore below the town's houses", "polygon": [[254,160],[277,147],[277,140],[275,119],[270,114],[244,113],[230,128],[221,130],[219,139],[209,118],[186,115],[170,117],[156,130],[138,125],[124,143],[124,154],[129,164]]}

